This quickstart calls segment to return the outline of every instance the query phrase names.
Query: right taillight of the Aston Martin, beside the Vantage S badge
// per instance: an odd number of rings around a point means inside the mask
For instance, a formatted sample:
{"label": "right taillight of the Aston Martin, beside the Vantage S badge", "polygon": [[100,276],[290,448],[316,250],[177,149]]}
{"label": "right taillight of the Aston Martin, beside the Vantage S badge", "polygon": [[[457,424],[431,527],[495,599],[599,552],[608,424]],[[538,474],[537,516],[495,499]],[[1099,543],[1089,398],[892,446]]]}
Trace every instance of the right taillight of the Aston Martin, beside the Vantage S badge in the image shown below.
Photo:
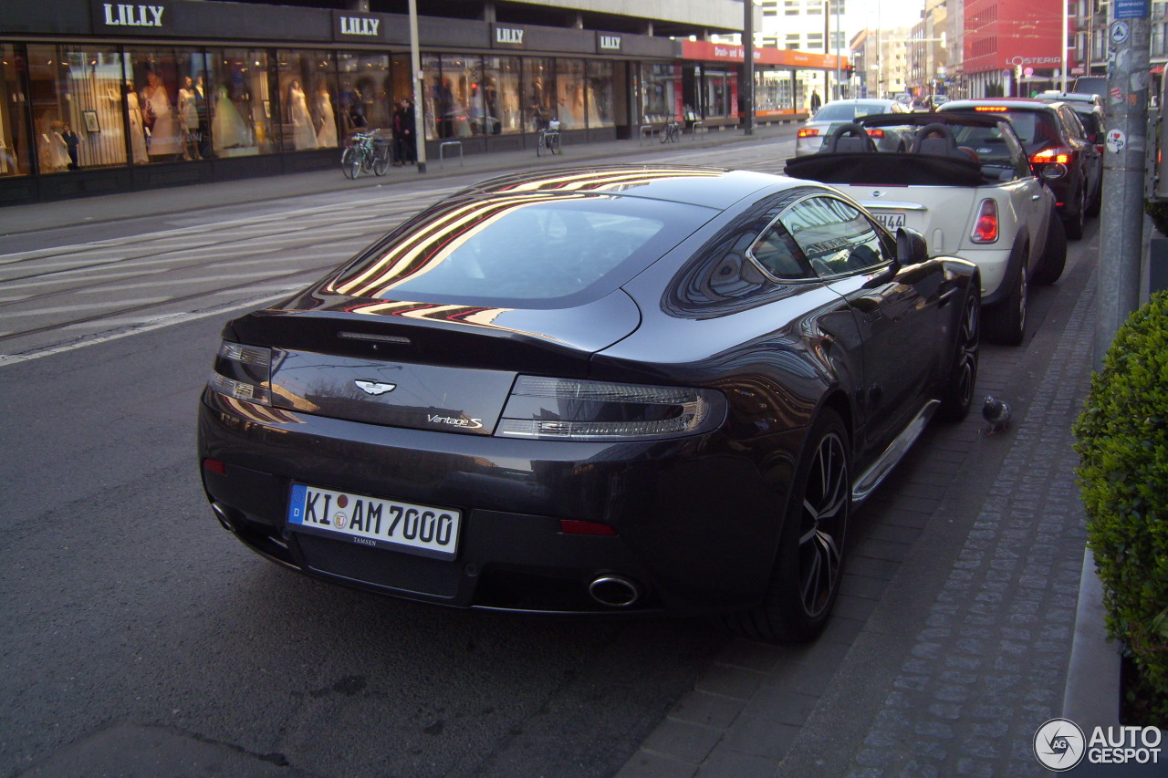
{"label": "right taillight of the Aston Martin, beside the Vantage S badge", "polygon": [[710,389],[521,375],[495,435],[541,440],[645,440],[709,432],[724,416],[725,397]]}

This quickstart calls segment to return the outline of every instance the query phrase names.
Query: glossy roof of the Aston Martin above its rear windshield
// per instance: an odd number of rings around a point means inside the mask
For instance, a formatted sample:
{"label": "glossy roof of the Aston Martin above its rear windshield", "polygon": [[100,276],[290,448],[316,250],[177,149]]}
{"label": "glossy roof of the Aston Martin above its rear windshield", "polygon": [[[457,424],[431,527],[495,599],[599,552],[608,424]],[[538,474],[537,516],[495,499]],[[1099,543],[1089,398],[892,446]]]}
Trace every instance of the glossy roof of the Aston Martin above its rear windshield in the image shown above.
{"label": "glossy roof of the Aston Martin above its rear windshield", "polygon": [[452,195],[459,197],[571,196],[607,194],[688,203],[724,210],[760,189],[794,182],[751,171],[689,165],[602,165],[513,173]]}

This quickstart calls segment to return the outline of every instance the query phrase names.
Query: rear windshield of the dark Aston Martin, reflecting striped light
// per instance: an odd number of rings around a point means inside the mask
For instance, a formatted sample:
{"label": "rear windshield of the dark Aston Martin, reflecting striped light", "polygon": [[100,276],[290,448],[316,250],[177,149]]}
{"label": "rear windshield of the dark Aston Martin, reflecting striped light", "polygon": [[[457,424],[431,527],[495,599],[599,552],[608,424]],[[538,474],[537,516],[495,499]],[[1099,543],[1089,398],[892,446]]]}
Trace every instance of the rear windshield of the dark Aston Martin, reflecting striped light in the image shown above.
{"label": "rear windshield of the dark Aston Martin, reflecting striped light", "polygon": [[641,272],[716,213],[589,194],[460,201],[431,211],[343,269],[329,289],[353,297],[505,307],[596,298]]}

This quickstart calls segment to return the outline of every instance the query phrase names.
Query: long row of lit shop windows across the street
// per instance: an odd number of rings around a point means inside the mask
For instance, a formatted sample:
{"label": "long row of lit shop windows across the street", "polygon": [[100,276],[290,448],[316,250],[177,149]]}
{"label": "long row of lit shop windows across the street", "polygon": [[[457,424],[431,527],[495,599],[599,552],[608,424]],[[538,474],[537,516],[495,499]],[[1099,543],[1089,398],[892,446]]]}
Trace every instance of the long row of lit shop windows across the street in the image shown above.
{"label": "long row of lit shop windows across the street", "polygon": [[[154,166],[203,160],[257,158],[222,168],[244,175],[324,166],[319,152],[353,132],[391,132],[413,97],[408,53],[346,47],[0,42],[0,179],[60,175],[54,192],[65,192],[75,171],[140,169],[131,183],[148,185],[175,180]],[[731,63],[430,51],[420,76],[425,139],[479,139],[475,151],[493,137],[515,148],[552,118],[613,138],[670,117],[735,119],[738,107]],[[759,109],[790,105],[790,71],[764,74]],[[306,161],[258,159],[286,155]]]}

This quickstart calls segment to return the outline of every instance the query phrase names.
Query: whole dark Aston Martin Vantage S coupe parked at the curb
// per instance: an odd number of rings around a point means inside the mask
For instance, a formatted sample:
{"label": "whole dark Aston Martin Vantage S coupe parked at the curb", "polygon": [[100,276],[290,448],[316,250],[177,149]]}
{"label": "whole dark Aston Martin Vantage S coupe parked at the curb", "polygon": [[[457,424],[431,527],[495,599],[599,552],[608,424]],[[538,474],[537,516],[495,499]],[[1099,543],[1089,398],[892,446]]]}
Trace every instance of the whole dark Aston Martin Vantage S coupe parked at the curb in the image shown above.
{"label": "whole dark Aston Martin Vantage S coupe parked at the curb", "polygon": [[978,290],[814,182],[494,179],[224,327],[203,484],[253,550],[350,586],[806,640],[854,507],[969,409]]}

